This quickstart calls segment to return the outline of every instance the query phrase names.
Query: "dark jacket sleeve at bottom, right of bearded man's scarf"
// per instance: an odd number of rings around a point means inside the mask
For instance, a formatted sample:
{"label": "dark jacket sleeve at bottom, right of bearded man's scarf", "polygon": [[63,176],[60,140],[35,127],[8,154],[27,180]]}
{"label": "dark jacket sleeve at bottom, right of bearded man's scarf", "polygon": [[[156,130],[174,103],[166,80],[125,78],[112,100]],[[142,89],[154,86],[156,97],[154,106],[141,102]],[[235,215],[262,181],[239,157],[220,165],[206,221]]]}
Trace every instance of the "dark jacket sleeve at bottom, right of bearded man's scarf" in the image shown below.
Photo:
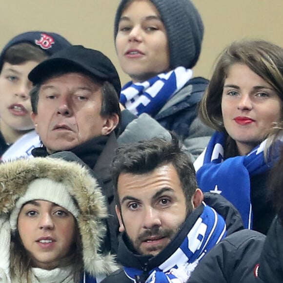
{"label": "dark jacket sleeve at bottom, right of bearded man's scarf", "polygon": [[253,283],[265,236],[242,230],[218,243],[193,271],[187,283]]}

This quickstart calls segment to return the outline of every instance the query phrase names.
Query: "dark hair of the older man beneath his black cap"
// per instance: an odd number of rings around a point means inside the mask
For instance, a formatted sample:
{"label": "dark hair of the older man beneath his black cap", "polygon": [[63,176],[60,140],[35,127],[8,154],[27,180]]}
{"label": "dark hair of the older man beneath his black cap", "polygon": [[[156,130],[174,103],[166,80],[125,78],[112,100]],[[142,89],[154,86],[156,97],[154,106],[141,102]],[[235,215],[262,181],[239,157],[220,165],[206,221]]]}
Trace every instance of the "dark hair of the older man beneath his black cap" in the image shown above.
{"label": "dark hair of the older man beneath his black cap", "polygon": [[38,102],[39,102],[39,94],[40,94],[40,87],[42,83],[46,80],[49,80],[54,77],[59,77],[68,73],[81,73],[84,76],[88,76],[92,81],[95,83],[101,84],[101,97],[102,97],[102,104],[101,104],[101,112],[100,115],[102,117],[111,117],[113,114],[117,114],[119,117],[119,123],[115,128],[114,132],[117,134],[119,132],[119,125],[121,122],[121,110],[119,105],[119,96],[114,88],[114,86],[109,81],[101,81],[88,72],[78,69],[76,67],[64,70],[61,69],[56,73],[50,74],[50,76],[44,78],[42,81],[34,85],[32,90],[30,91],[30,99],[31,99],[31,106],[32,111],[35,114],[38,114]]}

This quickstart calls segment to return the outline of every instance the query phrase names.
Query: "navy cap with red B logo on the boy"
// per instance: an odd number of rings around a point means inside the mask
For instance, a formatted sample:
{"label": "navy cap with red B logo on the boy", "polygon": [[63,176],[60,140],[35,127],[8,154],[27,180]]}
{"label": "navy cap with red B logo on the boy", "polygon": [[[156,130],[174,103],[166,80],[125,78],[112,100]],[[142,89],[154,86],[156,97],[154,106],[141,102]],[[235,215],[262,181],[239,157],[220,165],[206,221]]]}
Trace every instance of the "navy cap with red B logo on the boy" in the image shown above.
{"label": "navy cap with red B logo on the boy", "polygon": [[0,70],[3,65],[3,57],[7,49],[11,46],[19,43],[30,43],[34,46],[38,46],[40,49],[46,52],[47,55],[53,55],[59,50],[71,46],[71,43],[63,38],[61,35],[53,32],[44,31],[29,31],[17,35],[11,39],[3,48],[0,53]]}

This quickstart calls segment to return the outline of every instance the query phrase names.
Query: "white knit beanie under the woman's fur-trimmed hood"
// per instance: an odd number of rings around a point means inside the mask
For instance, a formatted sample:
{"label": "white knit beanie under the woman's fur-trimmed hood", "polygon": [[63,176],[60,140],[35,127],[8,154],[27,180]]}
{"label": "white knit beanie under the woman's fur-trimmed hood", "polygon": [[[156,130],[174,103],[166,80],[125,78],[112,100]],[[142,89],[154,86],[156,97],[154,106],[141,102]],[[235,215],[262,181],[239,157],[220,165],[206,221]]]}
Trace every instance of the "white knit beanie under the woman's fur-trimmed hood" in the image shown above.
{"label": "white knit beanie under the woman's fur-trimmed hood", "polygon": [[20,199],[16,202],[16,205],[10,215],[10,225],[12,231],[17,229],[18,216],[21,207],[26,202],[33,200],[54,202],[67,209],[74,215],[75,218],[78,218],[78,207],[70,196],[66,185],[51,179],[41,178],[33,180],[29,184],[24,196],[20,197]]}

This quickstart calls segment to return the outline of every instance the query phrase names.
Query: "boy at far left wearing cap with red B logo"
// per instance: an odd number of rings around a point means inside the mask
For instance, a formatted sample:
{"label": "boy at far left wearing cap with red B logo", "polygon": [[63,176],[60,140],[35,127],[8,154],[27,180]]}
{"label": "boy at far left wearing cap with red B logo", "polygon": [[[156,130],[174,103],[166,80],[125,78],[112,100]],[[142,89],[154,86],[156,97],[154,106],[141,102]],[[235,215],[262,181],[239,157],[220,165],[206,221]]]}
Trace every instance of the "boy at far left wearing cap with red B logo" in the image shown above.
{"label": "boy at far left wearing cap with red B logo", "polygon": [[[28,73],[41,61],[71,43],[56,33],[30,31],[10,40],[0,53],[0,157],[2,160],[30,155],[39,144],[30,118]],[[24,137],[21,139],[21,137]]]}

